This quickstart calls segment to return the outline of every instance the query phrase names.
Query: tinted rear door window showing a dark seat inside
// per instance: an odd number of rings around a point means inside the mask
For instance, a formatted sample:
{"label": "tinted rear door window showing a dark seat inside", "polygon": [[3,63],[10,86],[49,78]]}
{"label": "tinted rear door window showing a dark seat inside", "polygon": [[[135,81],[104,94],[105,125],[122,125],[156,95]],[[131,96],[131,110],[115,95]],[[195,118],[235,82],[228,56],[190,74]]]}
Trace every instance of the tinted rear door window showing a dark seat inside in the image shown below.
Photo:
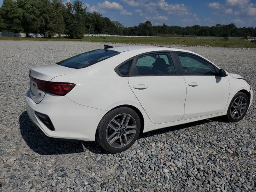
{"label": "tinted rear door window showing a dark seat inside", "polygon": [[168,53],[152,53],[138,57],[134,75],[172,75],[174,66]]}

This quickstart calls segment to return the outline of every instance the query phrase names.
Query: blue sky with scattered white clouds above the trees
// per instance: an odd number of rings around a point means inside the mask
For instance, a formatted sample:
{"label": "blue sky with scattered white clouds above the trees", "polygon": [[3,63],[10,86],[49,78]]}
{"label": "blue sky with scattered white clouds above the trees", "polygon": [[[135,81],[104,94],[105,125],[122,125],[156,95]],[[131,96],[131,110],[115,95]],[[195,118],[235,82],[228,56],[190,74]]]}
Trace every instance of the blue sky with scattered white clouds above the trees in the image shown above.
{"label": "blue sky with scattered white clouds above the trees", "polygon": [[[62,0],[66,2],[74,0]],[[153,25],[214,26],[234,23],[256,27],[256,0],[81,0],[88,12],[99,12],[124,26],[146,20]],[[0,0],[2,5],[3,0]]]}

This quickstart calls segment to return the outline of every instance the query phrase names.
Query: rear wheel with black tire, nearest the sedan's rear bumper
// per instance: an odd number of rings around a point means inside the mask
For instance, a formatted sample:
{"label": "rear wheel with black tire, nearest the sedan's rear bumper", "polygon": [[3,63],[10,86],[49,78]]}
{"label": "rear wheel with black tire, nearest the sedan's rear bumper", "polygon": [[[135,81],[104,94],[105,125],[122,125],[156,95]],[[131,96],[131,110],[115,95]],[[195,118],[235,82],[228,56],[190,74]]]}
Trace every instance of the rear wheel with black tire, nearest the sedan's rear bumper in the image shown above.
{"label": "rear wheel with black tire, nearest the sedan's rear bumper", "polygon": [[140,118],[128,107],[116,108],[108,112],[100,121],[96,140],[111,153],[130,148],[140,134]]}

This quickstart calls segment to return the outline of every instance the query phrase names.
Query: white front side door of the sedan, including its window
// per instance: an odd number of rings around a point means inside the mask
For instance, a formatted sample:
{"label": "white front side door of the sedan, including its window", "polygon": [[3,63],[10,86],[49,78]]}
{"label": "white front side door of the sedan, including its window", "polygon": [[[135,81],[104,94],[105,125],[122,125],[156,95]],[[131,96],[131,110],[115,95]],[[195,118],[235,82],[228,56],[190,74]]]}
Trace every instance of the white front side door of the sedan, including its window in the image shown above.
{"label": "white front side door of the sedan, including its window", "polygon": [[224,112],[230,93],[228,78],[218,76],[218,68],[194,54],[177,52],[187,95],[182,120]]}

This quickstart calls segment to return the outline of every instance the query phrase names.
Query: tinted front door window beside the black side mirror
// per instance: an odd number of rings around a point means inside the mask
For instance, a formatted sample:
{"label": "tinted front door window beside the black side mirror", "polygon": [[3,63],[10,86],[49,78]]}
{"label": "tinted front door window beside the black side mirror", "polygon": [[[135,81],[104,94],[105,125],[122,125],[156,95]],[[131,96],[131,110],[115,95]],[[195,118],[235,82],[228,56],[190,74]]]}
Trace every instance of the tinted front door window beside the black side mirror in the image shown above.
{"label": "tinted front door window beside the black side mirror", "polygon": [[178,54],[185,75],[214,75],[216,74],[214,66],[205,60],[190,55]]}

